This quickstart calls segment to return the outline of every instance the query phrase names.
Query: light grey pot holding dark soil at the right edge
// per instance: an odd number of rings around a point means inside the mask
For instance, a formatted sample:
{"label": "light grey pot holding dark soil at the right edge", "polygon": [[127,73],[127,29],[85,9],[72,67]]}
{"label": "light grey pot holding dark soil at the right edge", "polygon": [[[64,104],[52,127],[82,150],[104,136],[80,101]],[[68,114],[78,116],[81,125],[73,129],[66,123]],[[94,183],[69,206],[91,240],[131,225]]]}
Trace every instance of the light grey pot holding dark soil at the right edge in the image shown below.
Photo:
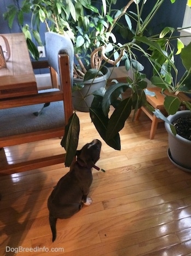
{"label": "light grey pot holding dark soil at the right edge", "polygon": [[[175,115],[168,116],[168,120],[173,122],[179,117],[190,115],[189,110],[178,111]],[[165,123],[165,128],[169,134],[169,159],[175,166],[191,172],[191,141],[182,138],[180,135],[171,132],[170,125]]]}

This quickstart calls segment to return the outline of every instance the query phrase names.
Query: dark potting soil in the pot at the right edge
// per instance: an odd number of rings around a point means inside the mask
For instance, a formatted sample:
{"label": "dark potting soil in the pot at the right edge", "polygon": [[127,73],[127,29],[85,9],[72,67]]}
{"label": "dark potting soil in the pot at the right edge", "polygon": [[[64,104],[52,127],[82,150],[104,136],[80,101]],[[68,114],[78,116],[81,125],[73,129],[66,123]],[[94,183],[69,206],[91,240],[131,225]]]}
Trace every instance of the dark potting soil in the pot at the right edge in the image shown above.
{"label": "dark potting soil in the pot at the right edge", "polygon": [[178,135],[191,140],[191,117],[177,118],[172,124],[175,126]]}

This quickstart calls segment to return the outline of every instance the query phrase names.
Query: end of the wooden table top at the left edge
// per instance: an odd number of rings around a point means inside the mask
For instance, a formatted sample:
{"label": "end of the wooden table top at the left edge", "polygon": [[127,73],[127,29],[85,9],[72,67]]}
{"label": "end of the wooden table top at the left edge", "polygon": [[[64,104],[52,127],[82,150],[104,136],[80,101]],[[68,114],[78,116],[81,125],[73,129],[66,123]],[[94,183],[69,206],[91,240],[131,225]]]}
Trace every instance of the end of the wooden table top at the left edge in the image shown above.
{"label": "end of the wooden table top at the left edge", "polygon": [[[10,45],[7,67],[0,70],[0,99],[37,94],[31,59],[23,33],[4,34]],[[2,40],[2,39],[1,39]],[[1,41],[0,44],[3,45]],[[3,49],[4,45],[3,45]]]}

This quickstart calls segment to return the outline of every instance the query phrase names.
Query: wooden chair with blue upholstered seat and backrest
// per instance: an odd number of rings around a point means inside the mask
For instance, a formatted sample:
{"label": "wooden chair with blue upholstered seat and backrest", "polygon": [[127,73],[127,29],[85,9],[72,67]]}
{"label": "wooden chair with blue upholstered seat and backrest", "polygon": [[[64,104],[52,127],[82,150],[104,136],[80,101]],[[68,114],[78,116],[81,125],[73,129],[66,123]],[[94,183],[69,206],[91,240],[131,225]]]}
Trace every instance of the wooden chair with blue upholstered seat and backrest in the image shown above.
{"label": "wooden chair with blue upholstered seat and backrest", "polygon": [[[59,89],[43,90],[30,96],[1,100],[0,148],[2,150],[7,146],[62,137],[65,124],[73,113],[71,98],[73,44],[68,38],[53,32],[46,33],[45,41],[47,62],[51,71],[56,71],[58,74]],[[47,62],[36,62],[34,67],[46,67]],[[44,109],[44,114],[33,115],[45,103],[50,103],[50,106]],[[63,163],[64,156],[63,150],[63,154],[60,155],[22,163],[9,164],[4,161],[3,167],[0,167],[0,175]]]}

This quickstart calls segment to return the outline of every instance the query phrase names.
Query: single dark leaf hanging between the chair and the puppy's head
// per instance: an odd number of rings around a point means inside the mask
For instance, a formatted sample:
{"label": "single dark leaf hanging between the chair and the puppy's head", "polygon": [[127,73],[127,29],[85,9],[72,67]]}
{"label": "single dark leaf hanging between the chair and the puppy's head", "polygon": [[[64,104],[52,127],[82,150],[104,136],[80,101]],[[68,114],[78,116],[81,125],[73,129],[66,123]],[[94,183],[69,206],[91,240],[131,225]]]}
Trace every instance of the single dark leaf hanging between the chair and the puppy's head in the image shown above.
{"label": "single dark leaf hanging between the chair and the puppy's head", "polygon": [[80,133],[80,121],[74,112],[69,118],[67,126],[65,126],[65,133],[61,140],[61,146],[66,151],[65,166],[69,167],[76,155],[77,143]]}

